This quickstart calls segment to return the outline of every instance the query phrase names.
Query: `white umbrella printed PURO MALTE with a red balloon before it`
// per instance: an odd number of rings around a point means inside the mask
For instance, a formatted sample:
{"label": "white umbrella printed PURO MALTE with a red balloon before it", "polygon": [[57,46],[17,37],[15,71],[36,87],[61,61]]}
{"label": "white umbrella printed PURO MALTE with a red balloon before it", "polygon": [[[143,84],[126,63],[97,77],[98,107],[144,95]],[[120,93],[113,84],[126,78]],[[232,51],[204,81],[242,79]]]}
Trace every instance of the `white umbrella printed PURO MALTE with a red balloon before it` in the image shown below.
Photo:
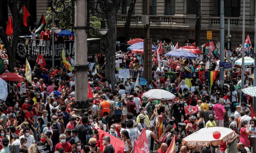
{"label": "white umbrella printed PURO MALTE with a red balloon before it", "polygon": [[[220,132],[221,136],[219,139],[213,138],[213,132]],[[190,134],[186,138],[183,138],[182,145],[187,144],[188,146],[217,146],[221,142],[227,142],[233,136],[235,136],[235,131],[226,127],[209,127],[202,128],[199,131]]]}

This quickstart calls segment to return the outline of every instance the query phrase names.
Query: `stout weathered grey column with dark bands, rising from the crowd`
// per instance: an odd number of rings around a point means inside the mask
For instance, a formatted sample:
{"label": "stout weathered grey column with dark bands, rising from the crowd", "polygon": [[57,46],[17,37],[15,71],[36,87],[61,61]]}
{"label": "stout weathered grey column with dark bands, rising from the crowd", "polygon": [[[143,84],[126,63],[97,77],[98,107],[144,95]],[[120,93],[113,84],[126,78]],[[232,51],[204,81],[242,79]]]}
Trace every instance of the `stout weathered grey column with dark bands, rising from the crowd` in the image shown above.
{"label": "stout weathered grey column with dark bands, rising from the crowd", "polygon": [[87,2],[76,0],[75,8],[75,97],[76,101],[87,100]]}

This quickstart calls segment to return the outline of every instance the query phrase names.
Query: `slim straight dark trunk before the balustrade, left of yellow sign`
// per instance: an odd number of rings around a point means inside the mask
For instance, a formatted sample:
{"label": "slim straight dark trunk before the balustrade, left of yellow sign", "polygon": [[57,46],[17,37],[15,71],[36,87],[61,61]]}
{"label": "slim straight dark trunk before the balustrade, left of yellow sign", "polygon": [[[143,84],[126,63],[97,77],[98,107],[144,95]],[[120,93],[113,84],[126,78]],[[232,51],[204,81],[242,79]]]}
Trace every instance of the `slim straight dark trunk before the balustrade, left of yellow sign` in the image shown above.
{"label": "slim straight dark trunk before the balustrade, left of yellow sign", "polygon": [[201,31],[201,19],[202,19],[202,13],[201,13],[201,0],[196,0],[197,5],[197,14],[196,14],[196,46],[200,46],[200,31]]}

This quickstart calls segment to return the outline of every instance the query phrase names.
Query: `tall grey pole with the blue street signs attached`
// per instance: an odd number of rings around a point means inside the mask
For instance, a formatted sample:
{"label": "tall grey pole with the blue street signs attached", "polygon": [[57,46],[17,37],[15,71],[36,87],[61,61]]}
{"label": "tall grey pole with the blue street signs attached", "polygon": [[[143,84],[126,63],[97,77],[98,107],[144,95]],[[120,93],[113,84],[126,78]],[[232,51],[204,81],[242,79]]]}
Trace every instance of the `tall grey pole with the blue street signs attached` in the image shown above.
{"label": "tall grey pole with the blue street signs attached", "polygon": [[[220,61],[224,62],[224,0],[220,0]],[[220,86],[224,85],[224,70],[220,68]]]}

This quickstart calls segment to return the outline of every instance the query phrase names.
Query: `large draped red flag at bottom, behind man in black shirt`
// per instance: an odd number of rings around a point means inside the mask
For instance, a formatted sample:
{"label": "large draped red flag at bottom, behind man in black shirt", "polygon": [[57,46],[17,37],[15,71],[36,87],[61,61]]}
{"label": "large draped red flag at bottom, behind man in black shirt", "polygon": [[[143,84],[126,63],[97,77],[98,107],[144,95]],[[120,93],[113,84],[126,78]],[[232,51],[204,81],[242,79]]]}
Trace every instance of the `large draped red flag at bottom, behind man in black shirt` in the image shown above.
{"label": "large draped red flag at bottom, behind man in black shirt", "polygon": [[104,136],[109,136],[110,137],[110,144],[114,147],[115,153],[123,153],[124,152],[125,143],[122,140],[112,136],[111,134],[109,134],[108,132],[105,132],[103,130],[98,130],[98,131],[99,131],[99,137],[100,137],[100,150],[101,150],[101,152],[103,152],[104,149],[105,149],[105,146],[102,145],[102,140],[103,140]]}

